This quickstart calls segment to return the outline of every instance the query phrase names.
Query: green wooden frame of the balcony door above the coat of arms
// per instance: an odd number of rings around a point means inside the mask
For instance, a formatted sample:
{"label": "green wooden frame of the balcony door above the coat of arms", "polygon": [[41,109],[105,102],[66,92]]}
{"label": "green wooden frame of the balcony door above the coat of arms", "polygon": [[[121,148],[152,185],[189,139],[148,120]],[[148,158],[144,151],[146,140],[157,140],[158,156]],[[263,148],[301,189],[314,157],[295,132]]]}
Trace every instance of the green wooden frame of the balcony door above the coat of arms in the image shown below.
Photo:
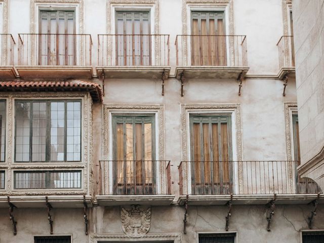
{"label": "green wooden frame of the balcony door above the coat of arms", "polygon": [[[151,128],[152,128],[152,161],[155,161],[155,163],[152,163],[152,191],[151,193],[144,193],[144,194],[156,194],[157,193],[157,187],[153,186],[156,185],[157,183],[157,175],[156,175],[156,154],[155,154],[155,141],[156,141],[156,135],[155,135],[155,114],[152,113],[147,113],[147,114],[137,114],[137,113],[130,113],[130,114],[123,114],[123,113],[113,113],[111,114],[111,121],[112,121],[112,139],[113,139],[113,143],[112,143],[112,151],[113,151],[113,160],[116,161],[117,158],[117,134],[116,134],[116,124],[117,124],[117,118],[119,117],[123,117],[123,118],[145,118],[145,117],[150,117],[151,118]],[[125,121],[124,121],[125,124]],[[134,121],[133,121],[133,126],[134,126]],[[142,120],[142,124],[144,124],[144,121]],[[133,129],[135,131],[135,129]],[[143,136],[143,135],[142,135]],[[124,135],[124,139],[125,139],[125,135]],[[123,143],[125,143],[125,141],[123,141]],[[144,144],[142,145],[144,146]],[[136,140],[135,142],[133,142],[133,153],[135,151],[135,147],[136,147]],[[124,144],[124,148],[126,148],[125,144]],[[142,147],[142,151],[143,151],[143,147]],[[124,151],[125,153],[125,151]],[[134,159],[135,160],[135,159]],[[144,161],[144,160],[143,160]],[[144,167],[143,167],[144,168]],[[113,185],[113,194],[128,194],[127,193],[127,189],[124,187],[127,187],[128,183],[126,182],[126,176],[124,175],[124,183],[122,183],[120,186],[123,187],[123,191],[122,192],[118,192],[117,187],[119,186],[119,184],[117,183],[116,180],[116,173],[117,173],[117,165],[116,163],[114,163],[112,165],[112,171],[114,171],[113,175],[112,175],[112,185]],[[135,172],[135,170],[134,170]],[[142,171],[143,175],[145,175],[145,172]],[[136,172],[135,172],[136,174]],[[145,180],[145,178],[143,178],[143,180]],[[146,183],[143,182],[142,185],[144,186]],[[135,187],[138,186],[137,184],[132,183],[132,185],[134,185]],[[144,191],[144,189],[143,189]]]}

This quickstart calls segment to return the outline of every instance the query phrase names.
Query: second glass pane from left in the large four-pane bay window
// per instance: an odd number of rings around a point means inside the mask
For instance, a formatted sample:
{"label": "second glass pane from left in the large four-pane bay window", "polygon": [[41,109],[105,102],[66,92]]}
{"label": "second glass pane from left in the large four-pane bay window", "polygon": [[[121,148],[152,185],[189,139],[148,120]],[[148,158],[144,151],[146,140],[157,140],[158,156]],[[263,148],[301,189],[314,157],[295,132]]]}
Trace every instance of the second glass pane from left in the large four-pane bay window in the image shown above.
{"label": "second glass pane from left in the large four-pane bay window", "polygon": [[32,103],[32,161],[46,160],[46,102]]}

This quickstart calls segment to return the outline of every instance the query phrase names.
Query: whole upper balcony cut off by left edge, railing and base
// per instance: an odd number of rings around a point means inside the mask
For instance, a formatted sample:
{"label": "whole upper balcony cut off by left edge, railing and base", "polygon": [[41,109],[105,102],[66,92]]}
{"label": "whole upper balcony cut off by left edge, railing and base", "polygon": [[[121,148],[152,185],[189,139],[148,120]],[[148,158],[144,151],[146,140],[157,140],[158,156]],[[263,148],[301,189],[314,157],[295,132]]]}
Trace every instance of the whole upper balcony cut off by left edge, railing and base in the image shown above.
{"label": "whole upper balcony cut off by left edge, railing and base", "polygon": [[11,34],[0,34],[0,78],[13,78],[18,75],[14,68],[15,44]]}

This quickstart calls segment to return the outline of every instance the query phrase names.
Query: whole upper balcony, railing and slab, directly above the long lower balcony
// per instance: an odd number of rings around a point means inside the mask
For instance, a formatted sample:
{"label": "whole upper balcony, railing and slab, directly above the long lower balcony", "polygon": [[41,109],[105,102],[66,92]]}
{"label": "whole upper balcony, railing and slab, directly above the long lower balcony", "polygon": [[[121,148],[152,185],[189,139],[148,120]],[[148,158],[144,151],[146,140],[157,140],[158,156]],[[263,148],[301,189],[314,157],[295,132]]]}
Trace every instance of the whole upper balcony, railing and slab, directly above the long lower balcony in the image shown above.
{"label": "whole upper balcony, railing and slab, directly above the long lower balcony", "polygon": [[249,70],[245,35],[177,35],[176,76],[243,77]]}

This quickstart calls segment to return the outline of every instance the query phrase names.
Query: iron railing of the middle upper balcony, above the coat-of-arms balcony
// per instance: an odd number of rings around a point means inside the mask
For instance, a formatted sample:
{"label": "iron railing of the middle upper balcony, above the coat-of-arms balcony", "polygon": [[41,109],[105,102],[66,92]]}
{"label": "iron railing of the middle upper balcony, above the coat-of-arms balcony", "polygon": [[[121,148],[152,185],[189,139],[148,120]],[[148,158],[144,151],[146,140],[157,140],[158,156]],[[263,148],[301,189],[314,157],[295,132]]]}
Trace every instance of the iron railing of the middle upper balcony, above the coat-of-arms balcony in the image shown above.
{"label": "iron railing of the middle upper balcony, above the coat-of-arms balcony", "polygon": [[169,34],[99,34],[99,66],[169,66]]}

